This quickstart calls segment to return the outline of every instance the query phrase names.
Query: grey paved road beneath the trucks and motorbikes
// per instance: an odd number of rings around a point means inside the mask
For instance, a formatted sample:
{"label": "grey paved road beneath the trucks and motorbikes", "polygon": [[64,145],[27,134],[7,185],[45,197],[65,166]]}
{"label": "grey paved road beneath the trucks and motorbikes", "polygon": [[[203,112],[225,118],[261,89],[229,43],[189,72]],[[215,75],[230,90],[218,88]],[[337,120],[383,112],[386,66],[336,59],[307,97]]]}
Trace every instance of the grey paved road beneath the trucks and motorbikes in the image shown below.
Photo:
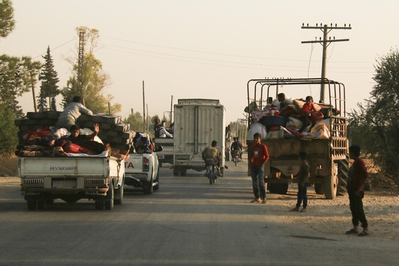
{"label": "grey paved road beneath the trucks and motorbikes", "polygon": [[[95,210],[85,199],[27,211],[19,187],[0,186],[4,265],[394,265],[394,242],[317,234],[281,219],[287,204],[250,204],[245,165],[208,184],[204,172],[161,169],[152,195],[125,190],[123,205]],[[328,226],[328,224],[326,224]]]}

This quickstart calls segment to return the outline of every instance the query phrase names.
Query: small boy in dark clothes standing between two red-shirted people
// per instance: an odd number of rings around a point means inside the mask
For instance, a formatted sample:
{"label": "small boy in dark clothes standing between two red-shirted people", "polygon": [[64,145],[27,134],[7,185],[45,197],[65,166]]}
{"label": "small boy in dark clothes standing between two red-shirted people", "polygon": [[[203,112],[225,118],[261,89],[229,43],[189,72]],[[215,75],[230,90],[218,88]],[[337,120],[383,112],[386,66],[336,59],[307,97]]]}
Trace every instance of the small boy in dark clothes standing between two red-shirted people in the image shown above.
{"label": "small boy in dark clothes standing between two red-shirted people", "polygon": [[[291,211],[306,213],[306,207],[308,206],[308,196],[306,195],[306,190],[309,186],[309,164],[306,161],[306,152],[300,152],[300,171],[298,172],[298,200],[295,208],[292,208]],[[302,204],[302,210],[300,206]]]}

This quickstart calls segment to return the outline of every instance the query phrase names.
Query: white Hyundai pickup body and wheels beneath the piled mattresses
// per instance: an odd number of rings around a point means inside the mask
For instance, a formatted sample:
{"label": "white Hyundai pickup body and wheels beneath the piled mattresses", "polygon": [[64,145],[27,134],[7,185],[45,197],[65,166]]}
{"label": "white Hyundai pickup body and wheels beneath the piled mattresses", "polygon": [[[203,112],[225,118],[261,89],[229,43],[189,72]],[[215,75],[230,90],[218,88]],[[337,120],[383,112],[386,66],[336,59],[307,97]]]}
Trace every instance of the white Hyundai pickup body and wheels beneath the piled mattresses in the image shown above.
{"label": "white Hyundai pickup body and wheels beneath the piled mattresses", "polygon": [[114,157],[20,157],[19,177],[27,208],[44,209],[54,199],[95,200],[95,208],[122,204],[125,164]]}

